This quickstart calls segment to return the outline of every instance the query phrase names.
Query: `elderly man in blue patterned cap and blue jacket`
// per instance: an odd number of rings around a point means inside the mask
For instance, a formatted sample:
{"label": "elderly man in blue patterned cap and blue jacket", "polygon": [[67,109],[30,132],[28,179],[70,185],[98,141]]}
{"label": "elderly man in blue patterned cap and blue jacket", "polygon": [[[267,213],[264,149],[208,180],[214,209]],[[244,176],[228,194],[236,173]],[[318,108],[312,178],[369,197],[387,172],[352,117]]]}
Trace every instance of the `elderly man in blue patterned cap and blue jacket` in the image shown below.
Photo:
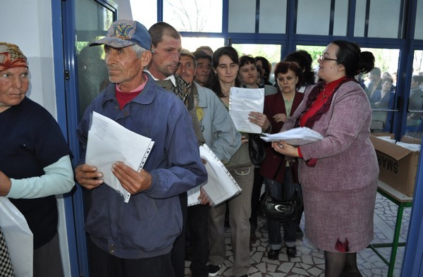
{"label": "elderly man in blue patterned cap and blue jacket", "polygon": [[149,137],[154,146],[143,168],[116,161],[110,170],[130,192],[128,203],[108,185],[95,164],[75,169],[92,190],[85,230],[90,235],[91,276],[175,276],[173,242],[182,229],[178,195],[207,180],[191,117],[182,101],[143,72],[152,59],[151,37],[133,20],[117,20],[103,39],[111,85],[92,101],[78,126],[85,159],[92,112]]}

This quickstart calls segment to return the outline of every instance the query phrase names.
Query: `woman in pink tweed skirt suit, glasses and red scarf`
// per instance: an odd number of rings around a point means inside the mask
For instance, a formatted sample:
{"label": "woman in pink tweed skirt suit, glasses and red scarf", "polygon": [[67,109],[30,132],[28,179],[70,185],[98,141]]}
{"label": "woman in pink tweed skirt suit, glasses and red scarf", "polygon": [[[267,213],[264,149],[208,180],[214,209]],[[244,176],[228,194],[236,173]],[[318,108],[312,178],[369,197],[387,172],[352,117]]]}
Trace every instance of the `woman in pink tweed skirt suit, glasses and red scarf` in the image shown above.
{"label": "woman in pink tweed skirt suit, glasses and red scarf", "polygon": [[305,235],[324,250],[325,276],[361,276],[356,256],[373,238],[379,168],[369,139],[372,109],[354,76],[372,70],[374,56],[336,40],[318,62],[323,81],[307,88],[281,131],[307,127],[324,139],[300,147],[272,142],[272,147],[298,157]]}

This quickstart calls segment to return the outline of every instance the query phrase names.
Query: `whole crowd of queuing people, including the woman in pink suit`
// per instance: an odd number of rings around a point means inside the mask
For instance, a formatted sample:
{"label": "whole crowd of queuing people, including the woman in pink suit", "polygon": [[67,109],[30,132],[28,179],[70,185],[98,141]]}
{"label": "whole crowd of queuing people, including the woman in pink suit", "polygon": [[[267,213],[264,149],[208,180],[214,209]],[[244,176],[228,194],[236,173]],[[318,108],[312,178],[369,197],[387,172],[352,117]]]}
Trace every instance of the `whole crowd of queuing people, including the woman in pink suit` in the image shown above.
{"label": "whole crowd of queuing people, including the woman in pink suit", "polygon": [[[74,175],[90,191],[85,218],[90,276],[183,277],[185,259],[191,261],[191,276],[217,276],[226,259],[226,220],[233,275],[248,276],[262,185],[271,186],[274,199],[287,200],[294,191],[300,199],[295,221],[267,218],[269,259],[278,259],[283,247],[289,258],[297,257],[295,241],[305,235],[324,250],[325,276],[361,276],[357,252],[373,238],[379,173],[369,140],[372,107],[389,107],[395,93],[392,77],[381,78],[374,68],[372,53],[333,41],[314,73],[307,51],[294,51],[276,64],[272,84],[264,57],[238,56],[231,46],[183,49],[178,31],[164,22],[147,30],[134,20],[116,20],[106,37],[90,43],[98,46],[104,47],[110,83],[82,113],[80,161],[73,168],[54,119],[25,97],[25,56],[13,44],[0,44],[0,130],[11,134],[0,138],[10,145],[0,159],[0,195],[12,199],[34,233],[34,276],[63,276],[60,259],[52,266],[48,258],[60,257],[54,195],[69,192]],[[364,90],[355,77],[367,73],[372,82]],[[412,97],[423,103],[417,91],[422,81],[414,82]],[[231,87],[264,90],[264,111],[245,118],[262,132],[307,127],[324,138],[301,146],[263,142],[265,159],[253,164],[252,134],[239,132],[228,112]],[[93,112],[154,141],[142,169],[125,161],[111,165],[131,194],[128,203],[104,183],[104,172],[86,164]],[[214,205],[201,188],[200,204],[188,207],[188,190],[207,181],[199,150],[204,143],[242,191]]]}

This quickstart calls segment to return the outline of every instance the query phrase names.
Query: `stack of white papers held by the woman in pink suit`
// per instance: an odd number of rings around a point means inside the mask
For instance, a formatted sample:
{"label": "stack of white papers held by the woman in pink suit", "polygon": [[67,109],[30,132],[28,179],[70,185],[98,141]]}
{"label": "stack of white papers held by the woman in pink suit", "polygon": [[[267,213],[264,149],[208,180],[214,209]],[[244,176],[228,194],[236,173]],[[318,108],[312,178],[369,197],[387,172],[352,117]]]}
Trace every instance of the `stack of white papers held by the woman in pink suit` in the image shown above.
{"label": "stack of white papers held by the woman in pink suit", "polygon": [[263,133],[261,137],[265,142],[276,142],[282,140],[291,145],[304,145],[311,142],[323,140],[323,136],[307,127],[298,127],[287,130],[282,133],[267,134]]}

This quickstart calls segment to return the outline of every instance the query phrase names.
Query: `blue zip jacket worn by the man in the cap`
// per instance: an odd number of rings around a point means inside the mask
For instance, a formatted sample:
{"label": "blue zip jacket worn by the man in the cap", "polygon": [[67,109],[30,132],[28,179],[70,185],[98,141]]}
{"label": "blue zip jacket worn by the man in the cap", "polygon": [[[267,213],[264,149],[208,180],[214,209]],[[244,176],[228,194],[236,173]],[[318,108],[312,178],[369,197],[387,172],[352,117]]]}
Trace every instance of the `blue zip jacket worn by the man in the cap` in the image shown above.
{"label": "blue zip jacket worn by the man in the cap", "polygon": [[152,175],[149,190],[132,195],[129,203],[107,185],[92,190],[85,230],[102,250],[123,259],[156,257],[171,251],[183,224],[178,195],[207,180],[192,119],[183,102],[156,85],[151,75],[145,75],[145,88],[122,110],[115,85],[106,87],[87,107],[78,126],[82,159],[92,111],[154,141],[144,166]]}

